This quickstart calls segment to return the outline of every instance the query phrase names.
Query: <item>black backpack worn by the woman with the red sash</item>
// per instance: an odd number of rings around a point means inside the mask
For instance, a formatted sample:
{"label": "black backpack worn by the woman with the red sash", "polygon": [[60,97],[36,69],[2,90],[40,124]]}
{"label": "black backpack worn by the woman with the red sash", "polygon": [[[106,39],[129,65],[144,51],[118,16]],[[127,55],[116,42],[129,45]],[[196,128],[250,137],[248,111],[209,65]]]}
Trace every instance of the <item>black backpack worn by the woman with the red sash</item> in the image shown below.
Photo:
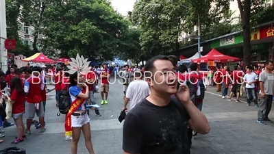
{"label": "black backpack worn by the woman with the red sash", "polygon": [[66,88],[61,91],[60,97],[59,97],[59,112],[57,116],[60,116],[60,114],[68,114],[69,109],[71,108],[71,101],[69,99],[69,85],[66,85]]}

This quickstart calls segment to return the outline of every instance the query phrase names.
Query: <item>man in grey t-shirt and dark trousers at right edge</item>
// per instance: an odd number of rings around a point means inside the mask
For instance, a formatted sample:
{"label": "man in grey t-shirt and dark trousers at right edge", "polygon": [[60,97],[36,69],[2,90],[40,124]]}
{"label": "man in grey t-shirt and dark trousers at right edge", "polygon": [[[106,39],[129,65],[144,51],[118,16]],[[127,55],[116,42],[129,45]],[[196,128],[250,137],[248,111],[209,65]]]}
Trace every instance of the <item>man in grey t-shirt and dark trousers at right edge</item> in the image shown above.
{"label": "man in grey t-shirt and dark trousers at right edge", "polygon": [[266,125],[266,122],[273,123],[273,121],[269,119],[274,95],[274,73],[272,73],[274,70],[273,61],[266,60],[264,68],[265,70],[260,73],[259,76],[261,98],[257,122]]}

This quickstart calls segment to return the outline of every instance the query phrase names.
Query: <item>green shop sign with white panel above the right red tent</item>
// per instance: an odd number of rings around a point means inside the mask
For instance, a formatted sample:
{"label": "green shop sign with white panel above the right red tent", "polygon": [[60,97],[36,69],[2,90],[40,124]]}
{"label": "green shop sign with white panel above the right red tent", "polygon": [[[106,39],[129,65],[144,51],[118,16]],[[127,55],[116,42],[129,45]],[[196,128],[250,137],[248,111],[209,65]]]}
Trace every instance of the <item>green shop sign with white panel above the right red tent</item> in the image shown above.
{"label": "green shop sign with white panel above the right red tent", "polygon": [[225,38],[212,41],[210,47],[219,48],[240,43],[242,43],[242,36],[227,36]]}

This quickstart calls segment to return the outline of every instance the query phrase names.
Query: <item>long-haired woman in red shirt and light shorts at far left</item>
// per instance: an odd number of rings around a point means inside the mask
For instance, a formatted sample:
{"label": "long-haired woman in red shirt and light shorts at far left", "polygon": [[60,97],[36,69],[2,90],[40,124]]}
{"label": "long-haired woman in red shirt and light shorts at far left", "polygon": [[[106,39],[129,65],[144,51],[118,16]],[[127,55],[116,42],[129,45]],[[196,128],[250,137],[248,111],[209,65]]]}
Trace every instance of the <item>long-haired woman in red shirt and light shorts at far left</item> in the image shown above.
{"label": "long-haired woman in red shirt and light shorts at far left", "polygon": [[25,92],[20,77],[12,78],[10,89],[11,95],[9,99],[12,103],[12,118],[14,118],[14,123],[16,124],[18,133],[18,136],[12,144],[18,144],[19,142],[23,142],[23,138],[25,138],[25,125],[23,123],[23,114],[25,112]]}

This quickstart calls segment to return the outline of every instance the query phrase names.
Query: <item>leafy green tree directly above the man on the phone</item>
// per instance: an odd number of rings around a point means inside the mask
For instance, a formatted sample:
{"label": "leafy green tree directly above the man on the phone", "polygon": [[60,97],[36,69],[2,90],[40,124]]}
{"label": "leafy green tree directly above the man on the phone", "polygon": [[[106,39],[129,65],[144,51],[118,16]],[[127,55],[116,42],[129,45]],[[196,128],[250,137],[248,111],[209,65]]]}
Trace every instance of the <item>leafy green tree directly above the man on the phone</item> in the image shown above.
{"label": "leafy green tree directly above the man on the phone", "polygon": [[171,1],[136,1],[129,15],[132,23],[141,27],[140,45],[145,55],[164,54],[173,49],[179,51],[178,36],[184,12],[182,5]]}

